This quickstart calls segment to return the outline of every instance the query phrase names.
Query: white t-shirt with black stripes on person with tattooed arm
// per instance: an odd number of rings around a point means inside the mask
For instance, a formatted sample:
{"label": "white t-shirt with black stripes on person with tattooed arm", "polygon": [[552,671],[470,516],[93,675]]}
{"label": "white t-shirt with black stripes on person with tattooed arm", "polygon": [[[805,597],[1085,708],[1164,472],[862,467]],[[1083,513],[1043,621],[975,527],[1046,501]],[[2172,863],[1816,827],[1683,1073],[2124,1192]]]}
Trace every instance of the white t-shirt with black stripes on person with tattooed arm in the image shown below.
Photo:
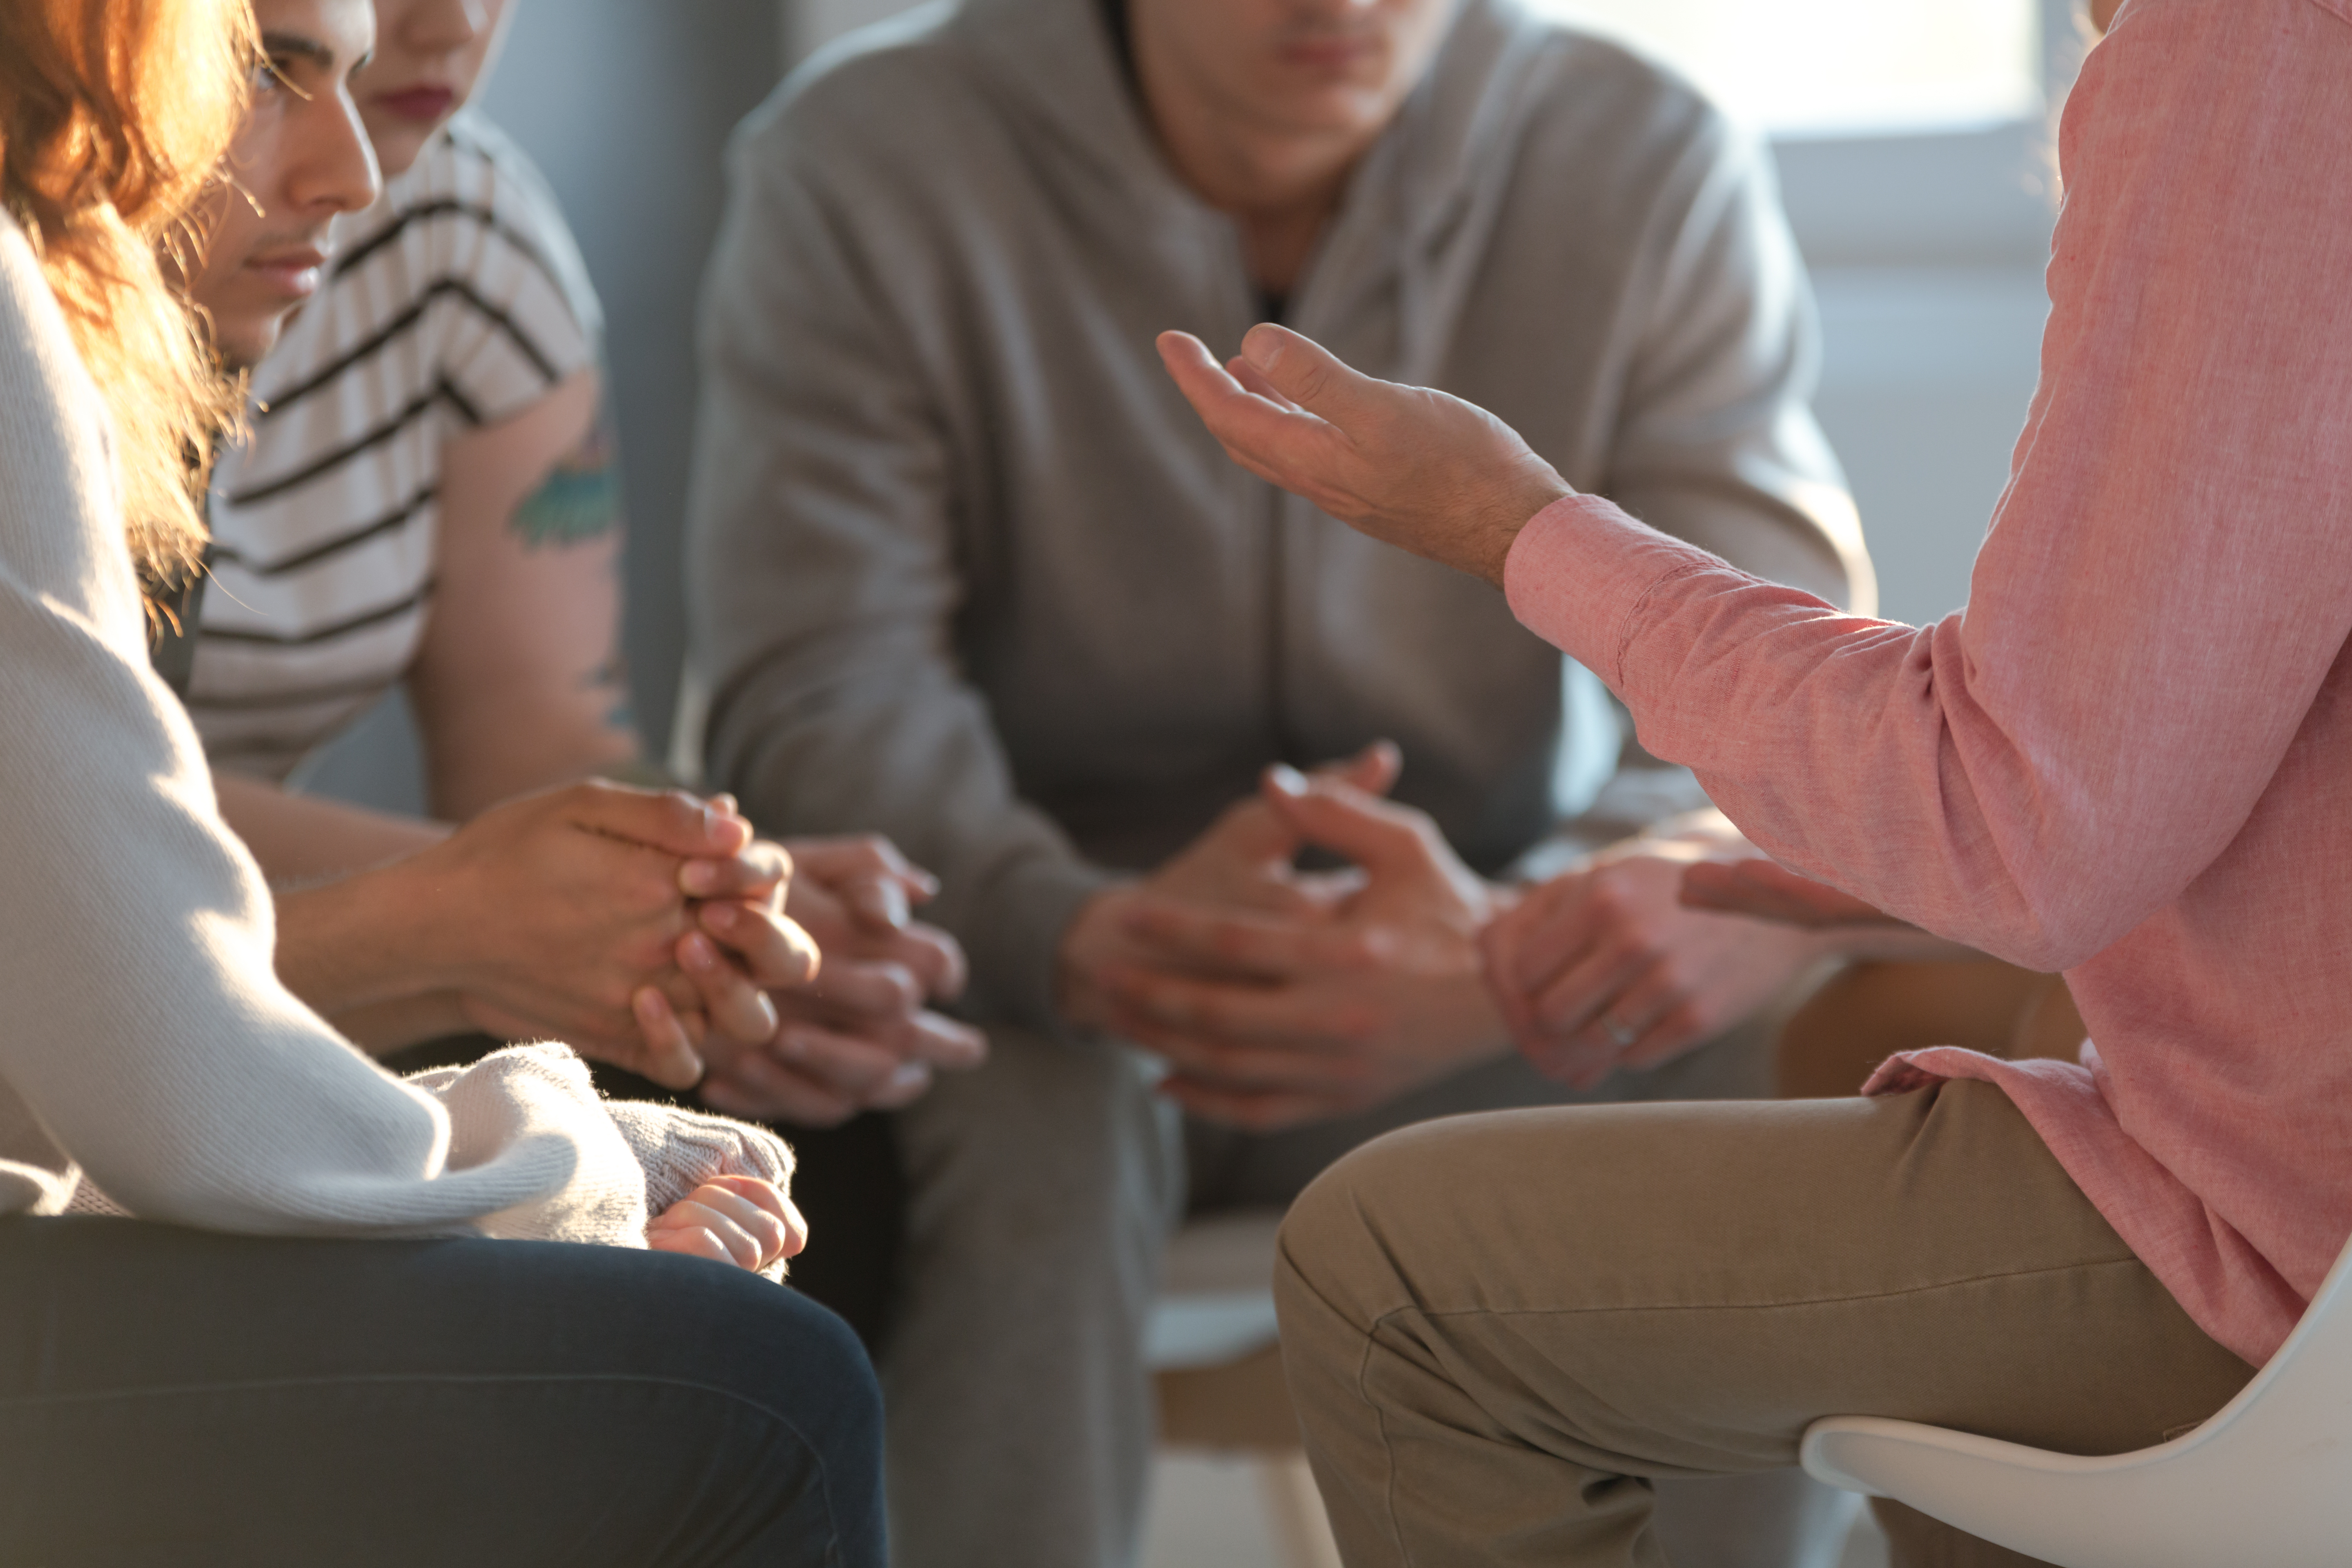
{"label": "white t-shirt with black stripes on person with tattooed arm", "polygon": [[539,169],[459,115],[336,226],[318,296],[254,374],[212,491],[188,686],[214,766],[285,778],[416,656],[442,442],[597,355],[597,306]]}

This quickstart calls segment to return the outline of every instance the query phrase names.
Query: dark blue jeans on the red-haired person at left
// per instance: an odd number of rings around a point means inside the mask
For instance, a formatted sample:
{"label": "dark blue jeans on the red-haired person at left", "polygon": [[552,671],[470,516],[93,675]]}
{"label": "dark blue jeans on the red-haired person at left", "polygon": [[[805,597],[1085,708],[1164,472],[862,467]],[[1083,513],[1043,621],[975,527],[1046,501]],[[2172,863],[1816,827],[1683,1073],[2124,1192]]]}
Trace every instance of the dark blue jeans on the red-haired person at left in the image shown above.
{"label": "dark blue jeans on the red-haired person at left", "polygon": [[696,1258],[0,1220],[0,1563],[880,1568],[849,1328]]}

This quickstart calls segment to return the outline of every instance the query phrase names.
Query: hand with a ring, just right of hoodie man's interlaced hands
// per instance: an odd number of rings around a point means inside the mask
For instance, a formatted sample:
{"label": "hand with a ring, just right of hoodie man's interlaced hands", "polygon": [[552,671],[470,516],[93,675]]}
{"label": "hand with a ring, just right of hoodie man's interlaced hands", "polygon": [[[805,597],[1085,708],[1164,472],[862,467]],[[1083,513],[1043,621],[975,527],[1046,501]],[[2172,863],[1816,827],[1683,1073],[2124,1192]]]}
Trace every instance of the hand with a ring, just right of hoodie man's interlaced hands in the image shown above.
{"label": "hand with a ring, just right of hoodie man's interlaced hands", "polygon": [[[1717,818],[1719,823],[1719,818]],[[1630,839],[1529,889],[1484,936],[1519,1051],[1590,1088],[1715,1039],[1830,947],[1809,931],[1693,910],[1684,875],[1738,842],[1729,825]]]}

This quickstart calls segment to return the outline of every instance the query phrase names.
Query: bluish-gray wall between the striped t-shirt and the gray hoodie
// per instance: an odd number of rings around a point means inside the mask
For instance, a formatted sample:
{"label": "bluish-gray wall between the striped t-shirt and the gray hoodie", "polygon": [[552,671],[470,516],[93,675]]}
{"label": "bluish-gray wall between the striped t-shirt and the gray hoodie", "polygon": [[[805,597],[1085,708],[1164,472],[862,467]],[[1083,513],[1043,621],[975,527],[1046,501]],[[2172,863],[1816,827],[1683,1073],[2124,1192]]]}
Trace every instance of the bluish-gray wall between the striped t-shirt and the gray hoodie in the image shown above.
{"label": "bluish-gray wall between the striped t-shirt and the gray hoodie", "polygon": [[[694,296],[720,219],[720,148],[776,82],[776,0],[515,0],[485,94],[539,162],[604,299],[628,484],[628,668],[654,755],[670,733],[684,616],[677,531],[694,428]],[[414,743],[386,703],[308,788],[421,809]]]}

